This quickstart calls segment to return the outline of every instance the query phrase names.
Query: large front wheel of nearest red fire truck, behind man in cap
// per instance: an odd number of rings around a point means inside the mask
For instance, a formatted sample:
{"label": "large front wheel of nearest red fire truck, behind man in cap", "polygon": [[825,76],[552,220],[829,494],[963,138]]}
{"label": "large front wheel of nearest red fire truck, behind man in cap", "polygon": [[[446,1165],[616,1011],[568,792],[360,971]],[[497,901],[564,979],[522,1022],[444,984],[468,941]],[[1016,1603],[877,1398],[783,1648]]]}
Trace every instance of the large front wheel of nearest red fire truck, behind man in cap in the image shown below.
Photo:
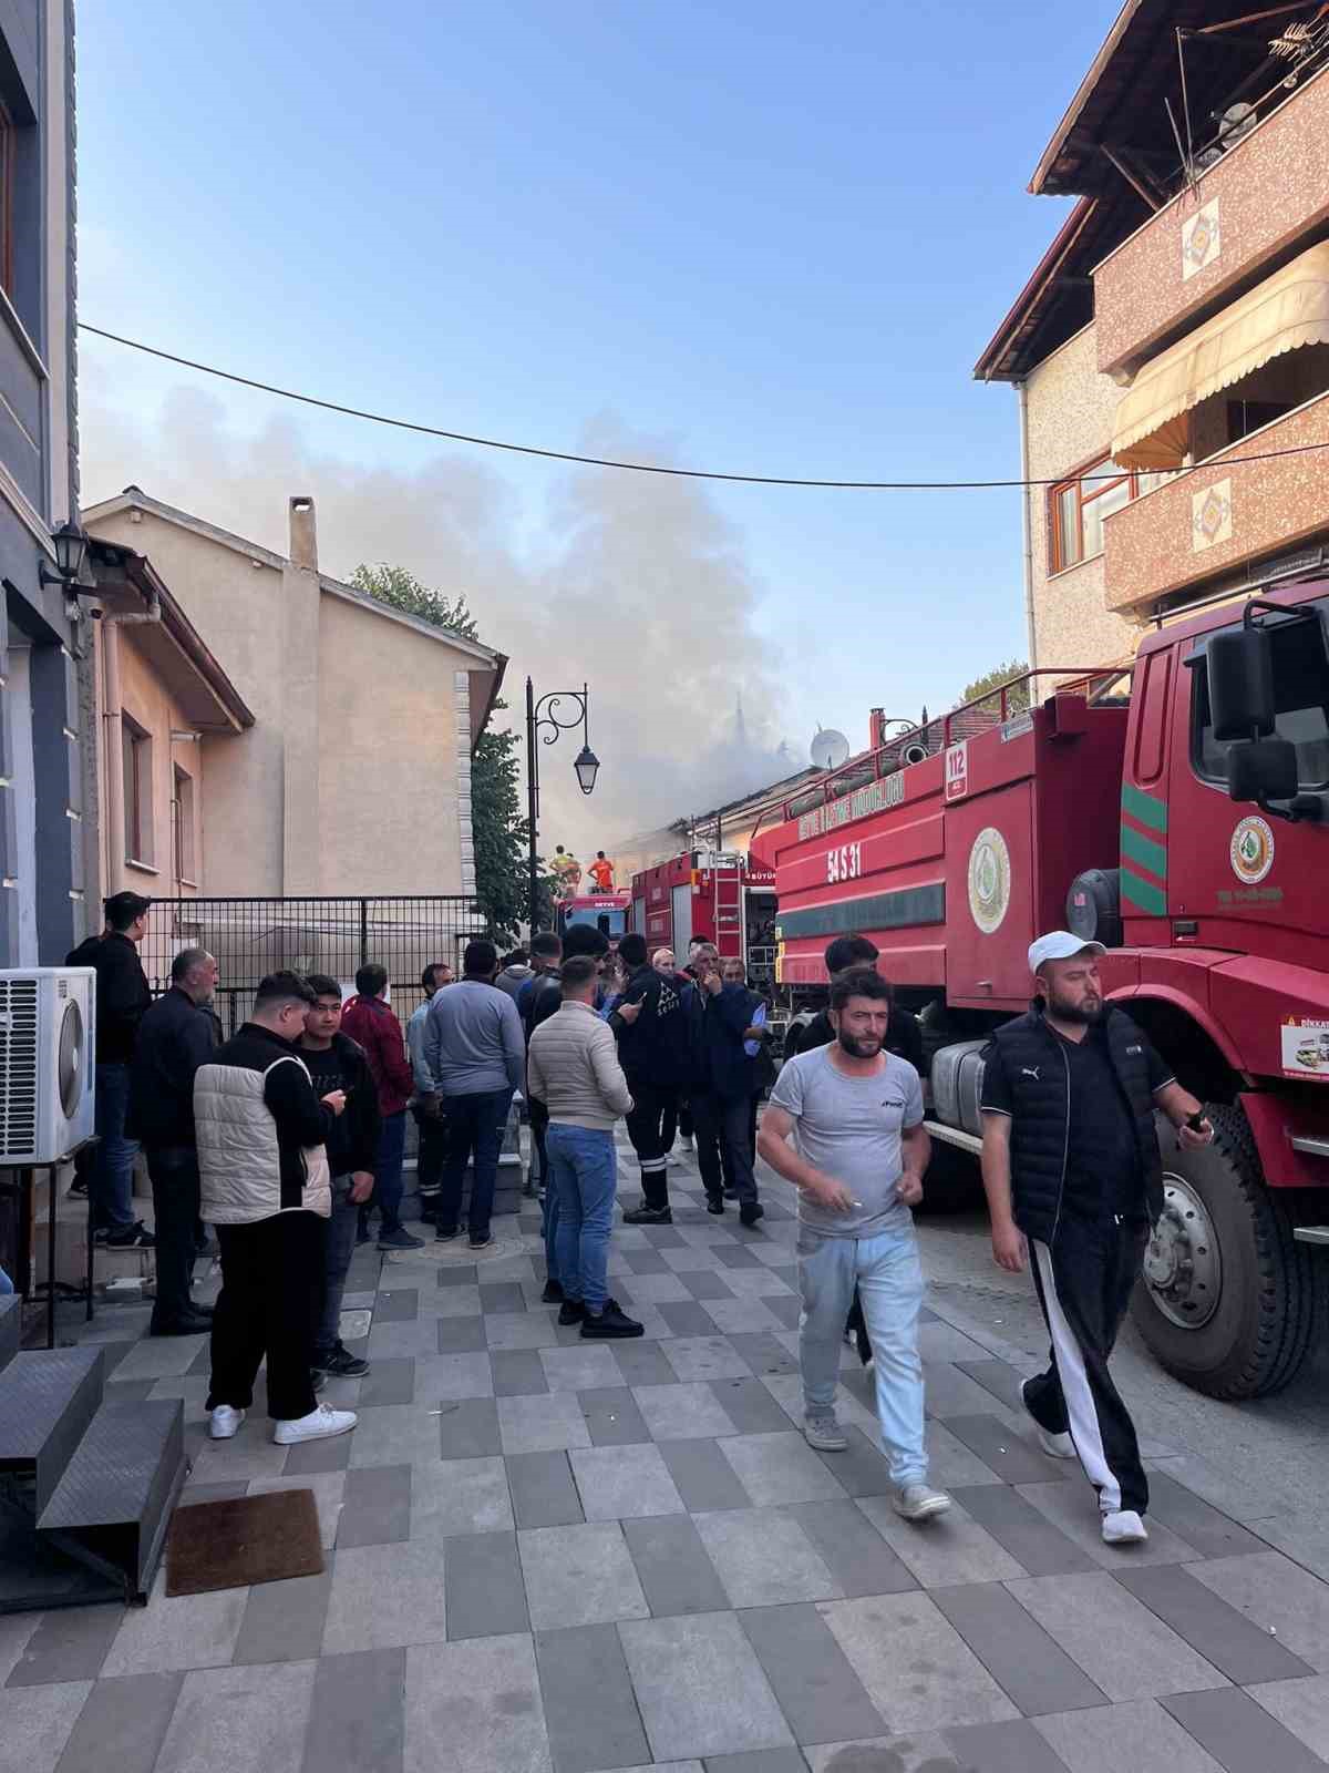
{"label": "large front wheel of nearest red fire truck, behind man in cap", "polygon": [[1242,1110],[1205,1113],[1214,1144],[1201,1151],[1178,1151],[1159,1117],[1164,1209],[1131,1316],[1159,1365],[1198,1392],[1267,1397],[1306,1356],[1324,1282],[1263,1183]]}

